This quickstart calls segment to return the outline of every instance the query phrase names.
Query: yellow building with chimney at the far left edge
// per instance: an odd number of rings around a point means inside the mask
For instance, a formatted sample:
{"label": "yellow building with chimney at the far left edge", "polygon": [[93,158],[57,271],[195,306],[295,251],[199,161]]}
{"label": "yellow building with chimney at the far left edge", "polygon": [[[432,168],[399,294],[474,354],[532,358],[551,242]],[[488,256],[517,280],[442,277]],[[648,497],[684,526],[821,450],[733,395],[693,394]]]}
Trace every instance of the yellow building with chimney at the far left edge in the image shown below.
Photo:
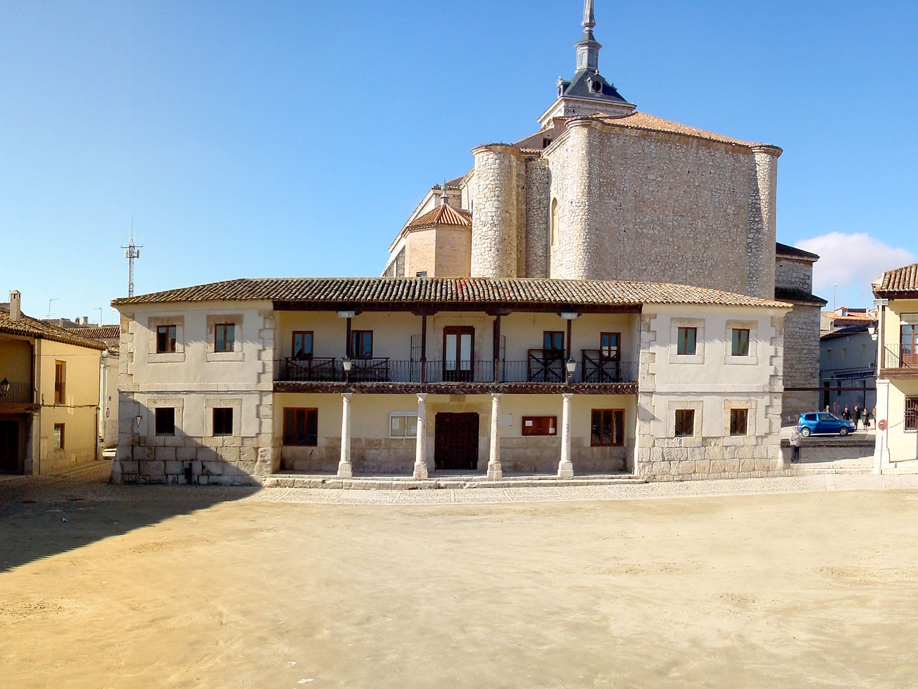
{"label": "yellow building with chimney at the far left edge", "polygon": [[0,304],[0,471],[48,473],[95,459],[106,345]]}

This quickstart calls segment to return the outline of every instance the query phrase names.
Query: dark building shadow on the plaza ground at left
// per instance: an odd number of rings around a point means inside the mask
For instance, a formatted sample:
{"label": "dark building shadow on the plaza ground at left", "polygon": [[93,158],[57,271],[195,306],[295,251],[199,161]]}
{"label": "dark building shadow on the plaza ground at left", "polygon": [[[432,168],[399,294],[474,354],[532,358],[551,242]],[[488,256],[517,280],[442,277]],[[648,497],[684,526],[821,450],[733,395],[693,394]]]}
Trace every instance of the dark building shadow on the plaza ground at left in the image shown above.
{"label": "dark building shadow on the plaza ground at left", "polygon": [[0,481],[0,572],[260,490],[111,485],[111,463],[99,465],[79,476]]}

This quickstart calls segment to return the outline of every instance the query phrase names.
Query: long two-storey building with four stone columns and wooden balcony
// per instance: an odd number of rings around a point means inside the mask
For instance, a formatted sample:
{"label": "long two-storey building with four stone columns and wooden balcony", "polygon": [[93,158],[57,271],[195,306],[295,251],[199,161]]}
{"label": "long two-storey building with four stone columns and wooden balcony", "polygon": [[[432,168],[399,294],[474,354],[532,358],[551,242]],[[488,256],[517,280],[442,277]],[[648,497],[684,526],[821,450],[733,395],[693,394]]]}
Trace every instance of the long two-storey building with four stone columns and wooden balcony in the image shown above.
{"label": "long two-storey building with four stone columns and wooden balcony", "polygon": [[231,280],[113,305],[124,482],[782,468],[790,307],[770,299],[383,277]]}

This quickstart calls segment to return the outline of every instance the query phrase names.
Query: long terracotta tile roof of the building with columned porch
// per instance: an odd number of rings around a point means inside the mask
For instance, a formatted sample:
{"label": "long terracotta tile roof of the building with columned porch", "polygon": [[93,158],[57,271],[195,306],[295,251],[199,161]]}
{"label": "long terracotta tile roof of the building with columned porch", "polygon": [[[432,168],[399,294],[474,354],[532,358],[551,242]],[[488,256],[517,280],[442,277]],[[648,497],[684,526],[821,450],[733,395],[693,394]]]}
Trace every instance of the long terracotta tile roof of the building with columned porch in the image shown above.
{"label": "long terracotta tile roof of the building with columned porch", "polygon": [[116,307],[132,304],[201,301],[294,301],[313,305],[353,304],[422,306],[436,304],[506,304],[559,306],[640,306],[711,304],[789,308],[781,301],[757,299],[719,289],[657,282],[554,280],[485,277],[277,277],[241,278],[196,287],[169,289],[115,299]]}

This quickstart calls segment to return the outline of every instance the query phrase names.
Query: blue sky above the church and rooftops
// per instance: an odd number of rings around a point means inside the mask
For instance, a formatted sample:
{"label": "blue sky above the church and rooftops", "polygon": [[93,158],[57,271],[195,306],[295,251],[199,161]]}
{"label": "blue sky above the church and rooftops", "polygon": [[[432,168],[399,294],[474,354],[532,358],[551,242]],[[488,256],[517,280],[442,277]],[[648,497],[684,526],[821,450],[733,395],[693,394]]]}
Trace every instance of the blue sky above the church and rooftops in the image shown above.
{"label": "blue sky above the church and rooftops", "polygon": [[[0,0],[0,300],[117,322],[132,223],[139,294],[379,275],[431,185],[538,129],[582,12]],[[639,110],[784,149],[778,241],[823,256],[830,307],[918,260],[913,0],[596,0],[596,19],[600,73]]]}

